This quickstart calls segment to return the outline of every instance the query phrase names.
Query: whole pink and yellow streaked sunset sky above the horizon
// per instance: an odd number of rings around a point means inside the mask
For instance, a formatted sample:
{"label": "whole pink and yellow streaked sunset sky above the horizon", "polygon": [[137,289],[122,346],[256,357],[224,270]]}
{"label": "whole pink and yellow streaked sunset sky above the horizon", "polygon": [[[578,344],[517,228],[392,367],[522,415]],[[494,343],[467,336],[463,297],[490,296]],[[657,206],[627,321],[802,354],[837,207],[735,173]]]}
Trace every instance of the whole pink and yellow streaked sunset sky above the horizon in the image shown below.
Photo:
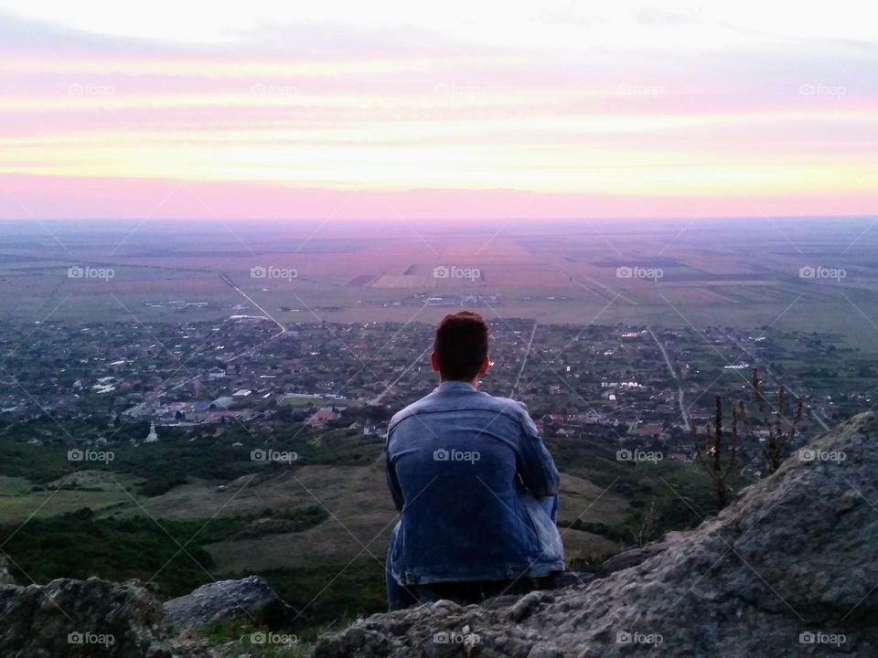
{"label": "whole pink and yellow streaked sunset sky above the horizon", "polygon": [[0,218],[878,212],[860,0],[0,0]]}

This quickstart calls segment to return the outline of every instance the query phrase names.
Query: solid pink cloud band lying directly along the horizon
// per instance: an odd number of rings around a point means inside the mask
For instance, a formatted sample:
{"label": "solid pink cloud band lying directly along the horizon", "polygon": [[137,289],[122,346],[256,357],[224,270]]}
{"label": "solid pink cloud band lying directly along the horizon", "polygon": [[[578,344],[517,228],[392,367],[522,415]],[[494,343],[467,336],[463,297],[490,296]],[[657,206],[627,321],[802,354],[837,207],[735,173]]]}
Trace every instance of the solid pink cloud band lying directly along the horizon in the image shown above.
{"label": "solid pink cloud band lying directly along the horizon", "polygon": [[869,215],[878,193],[795,196],[300,189],[145,178],[0,175],[0,219],[549,219]]}

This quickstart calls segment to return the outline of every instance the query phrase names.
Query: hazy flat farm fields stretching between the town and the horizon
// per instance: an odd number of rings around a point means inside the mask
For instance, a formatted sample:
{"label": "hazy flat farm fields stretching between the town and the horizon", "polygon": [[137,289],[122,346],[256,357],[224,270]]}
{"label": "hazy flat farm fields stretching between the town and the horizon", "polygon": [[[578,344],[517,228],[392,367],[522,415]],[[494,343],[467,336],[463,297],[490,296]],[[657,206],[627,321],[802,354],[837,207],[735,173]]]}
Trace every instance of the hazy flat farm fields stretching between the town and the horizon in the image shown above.
{"label": "hazy flat farm fields stretching between the town and the horizon", "polygon": [[[88,233],[7,223],[0,307],[32,322],[268,313],[289,323],[434,322],[476,306],[550,324],[777,323],[875,345],[878,229],[866,219],[838,230],[807,218],[380,228],[386,238],[365,222],[205,220],[184,230],[120,221]],[[70,277],[70,267],[112,277]],[[801,276],[808,268],[827,276]]]}

